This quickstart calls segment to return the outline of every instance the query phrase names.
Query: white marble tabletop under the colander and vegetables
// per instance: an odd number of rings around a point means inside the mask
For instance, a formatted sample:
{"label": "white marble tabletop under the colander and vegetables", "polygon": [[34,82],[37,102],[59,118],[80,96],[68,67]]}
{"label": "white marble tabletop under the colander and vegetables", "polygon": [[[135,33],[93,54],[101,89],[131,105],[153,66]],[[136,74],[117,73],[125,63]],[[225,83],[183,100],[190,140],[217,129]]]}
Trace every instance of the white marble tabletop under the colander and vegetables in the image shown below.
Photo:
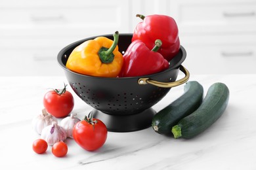
{"label": "white marble tabletop under the colander and vegetables", "polygon": [[[0,169],[256,169],[256,75],[191,75],[190,80],[200,82],[205,93],[214,82],[224,82],[230,89],[223,116],[198,137],[173,139],[151,127],[110,132],[95,152],[67,139],[68,154],[56,158],[50,146],[45,154],[33,152],[32,143],[39,135],[31,122],[43,108],[47,88],[62,88],[66,78],[1,77]],[[162,109],[182,93],[183,86],[172,88],[153,109]],[[83,118],[91,107],[74,97],[72,112]]]}

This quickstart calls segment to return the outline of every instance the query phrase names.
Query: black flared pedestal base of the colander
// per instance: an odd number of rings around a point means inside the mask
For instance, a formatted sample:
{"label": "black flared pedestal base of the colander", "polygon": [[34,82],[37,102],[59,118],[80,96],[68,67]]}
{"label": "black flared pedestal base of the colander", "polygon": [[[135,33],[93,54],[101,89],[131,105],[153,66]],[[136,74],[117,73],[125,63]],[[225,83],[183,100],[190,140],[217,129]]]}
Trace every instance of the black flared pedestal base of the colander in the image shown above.
{"label": "black flared pedestal base of the colander", "polygon": [[156,114],[156,111],[152,108],[137,114],[122,116],[106,114],[96,109],[93,109],[91,112],[94,118],[104,122],[108,131],[113,132],[130,132],[146,129],[151,126],[152,118]]}

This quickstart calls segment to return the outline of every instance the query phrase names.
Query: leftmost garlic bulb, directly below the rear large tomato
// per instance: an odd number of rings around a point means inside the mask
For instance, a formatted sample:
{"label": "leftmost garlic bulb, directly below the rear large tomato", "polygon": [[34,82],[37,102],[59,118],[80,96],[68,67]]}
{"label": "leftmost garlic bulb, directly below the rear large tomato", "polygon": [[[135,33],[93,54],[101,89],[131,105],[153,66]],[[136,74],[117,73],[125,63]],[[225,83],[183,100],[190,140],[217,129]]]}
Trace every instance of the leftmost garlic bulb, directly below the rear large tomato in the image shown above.
{"label": "leftmost garlic bulb, directly below the rear large tomato", "polygon": [[32,127],[39,135],[41,135],[43,128],[51,125],[53,122],[58,122],[58,120],[43,109],[41,114],[33,118]]}

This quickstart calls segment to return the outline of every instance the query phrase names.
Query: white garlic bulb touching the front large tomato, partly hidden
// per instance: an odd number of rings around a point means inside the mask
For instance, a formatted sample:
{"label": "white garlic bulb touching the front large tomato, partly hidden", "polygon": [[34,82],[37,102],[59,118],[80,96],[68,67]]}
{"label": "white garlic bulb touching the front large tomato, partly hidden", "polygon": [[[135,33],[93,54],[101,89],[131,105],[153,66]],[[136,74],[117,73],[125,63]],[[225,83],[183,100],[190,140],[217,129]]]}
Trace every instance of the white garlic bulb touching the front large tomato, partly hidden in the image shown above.
{"label": "white garlic bulb touching the front large tomato, partly hidden", "polygon": [[62,126],[67,132],[67,137],[70,137],[72,139],[73,139],[73,127],[75,126],[75,124],[77,122],[80,121],[79,118],[75,117],[76,115],[77,114],[72,113],[72,114],[70,114],[70,116],[62,119],[60,122],[60,126]]}

